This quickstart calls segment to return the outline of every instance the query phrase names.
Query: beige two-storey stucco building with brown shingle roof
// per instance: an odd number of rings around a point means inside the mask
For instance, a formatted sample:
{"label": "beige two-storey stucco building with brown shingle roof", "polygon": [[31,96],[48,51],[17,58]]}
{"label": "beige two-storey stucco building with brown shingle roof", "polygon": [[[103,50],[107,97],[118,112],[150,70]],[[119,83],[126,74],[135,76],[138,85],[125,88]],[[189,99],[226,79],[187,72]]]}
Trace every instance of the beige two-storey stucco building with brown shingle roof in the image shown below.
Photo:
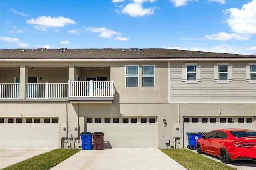
{"label": "beige two-storey stucco building with brown shingle roof", "polygon": [[[256,130],[256,56],[174,49],[0,50],[0,147],[183,148]],[[170,141],[168,143],[168,141]]]}

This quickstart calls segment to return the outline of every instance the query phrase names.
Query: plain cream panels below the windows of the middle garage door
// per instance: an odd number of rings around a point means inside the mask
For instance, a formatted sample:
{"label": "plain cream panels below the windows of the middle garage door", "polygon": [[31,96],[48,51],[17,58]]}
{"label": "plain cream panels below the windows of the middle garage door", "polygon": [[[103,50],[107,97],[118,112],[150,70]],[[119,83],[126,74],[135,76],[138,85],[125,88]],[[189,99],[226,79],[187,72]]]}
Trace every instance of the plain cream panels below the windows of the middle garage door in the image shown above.
{"label": "plain cream panels below the windows of the middle garage door", "polygon": [[87,132],[104,132],[104,147],[157,147],[156,123],[87,123]]}

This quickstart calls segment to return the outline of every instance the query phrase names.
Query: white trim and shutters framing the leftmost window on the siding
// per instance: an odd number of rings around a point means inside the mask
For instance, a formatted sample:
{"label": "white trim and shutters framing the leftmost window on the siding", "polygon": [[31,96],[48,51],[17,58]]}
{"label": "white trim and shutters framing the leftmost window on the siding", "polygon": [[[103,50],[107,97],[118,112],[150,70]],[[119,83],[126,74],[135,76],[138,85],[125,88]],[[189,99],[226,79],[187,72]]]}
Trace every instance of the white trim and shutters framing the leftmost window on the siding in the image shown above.
{"label": "white trim and shutters framing the leftmost window on the siding", "polygon": [[[196,66],[196,80],[188,80],[187,66]],[[185,83],[198,83],[201,81],[201,65],[197,63],[185,63],[182,65],[182,81]]]}

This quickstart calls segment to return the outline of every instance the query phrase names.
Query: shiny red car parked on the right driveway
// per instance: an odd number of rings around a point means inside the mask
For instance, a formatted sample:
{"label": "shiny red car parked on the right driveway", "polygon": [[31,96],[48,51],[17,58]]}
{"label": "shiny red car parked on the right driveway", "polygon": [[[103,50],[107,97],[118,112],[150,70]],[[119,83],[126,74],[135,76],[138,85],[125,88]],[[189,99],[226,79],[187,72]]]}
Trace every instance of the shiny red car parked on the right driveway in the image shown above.
{"label": "shiny red car parked on the right driveway", "polygon": [[196,151],[218,156],[226,164],[232,160],[256,160],[256,131],[212,130],[196,141]]}

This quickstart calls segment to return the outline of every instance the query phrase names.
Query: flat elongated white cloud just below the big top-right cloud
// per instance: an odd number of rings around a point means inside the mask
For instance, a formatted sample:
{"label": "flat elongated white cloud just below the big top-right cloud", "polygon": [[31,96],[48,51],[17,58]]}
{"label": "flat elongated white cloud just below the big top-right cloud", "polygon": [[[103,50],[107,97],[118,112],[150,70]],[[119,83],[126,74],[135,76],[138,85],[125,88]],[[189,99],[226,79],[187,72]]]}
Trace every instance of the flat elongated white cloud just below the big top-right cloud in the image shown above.
{"label": "flat elongated white cloud just below the big top-right cloud", "polygon": [[244,36],[244,35],[239,35],[235,33],[225,33],[225,32],[219,32],[217,34],[211,34],[211,35],[206,35],[204,38],[209,39],[209,40],[231,40],[231,39],[236,39],[236,40],[248,40],[250,37]]}

